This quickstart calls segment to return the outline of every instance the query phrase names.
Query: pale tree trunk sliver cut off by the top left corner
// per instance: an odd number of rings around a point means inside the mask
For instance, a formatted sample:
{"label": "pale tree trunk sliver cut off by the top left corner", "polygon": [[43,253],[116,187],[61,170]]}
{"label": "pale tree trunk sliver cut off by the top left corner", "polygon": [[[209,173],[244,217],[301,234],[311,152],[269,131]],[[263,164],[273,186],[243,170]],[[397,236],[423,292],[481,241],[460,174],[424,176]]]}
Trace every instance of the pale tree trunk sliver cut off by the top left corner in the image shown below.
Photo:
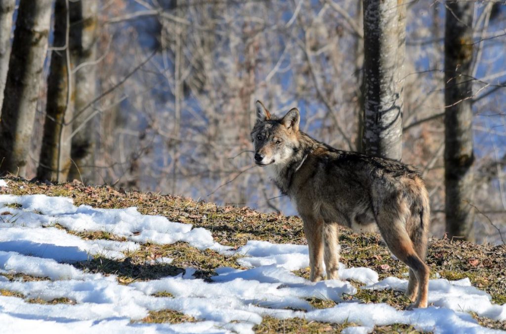
{"label": "pale tree trunk sliver cut off by the top left corner", "polygon": [[0,1],[0,112],[4,101],[5,81],[11,55],[12,15],[15,5],[16,0]]}

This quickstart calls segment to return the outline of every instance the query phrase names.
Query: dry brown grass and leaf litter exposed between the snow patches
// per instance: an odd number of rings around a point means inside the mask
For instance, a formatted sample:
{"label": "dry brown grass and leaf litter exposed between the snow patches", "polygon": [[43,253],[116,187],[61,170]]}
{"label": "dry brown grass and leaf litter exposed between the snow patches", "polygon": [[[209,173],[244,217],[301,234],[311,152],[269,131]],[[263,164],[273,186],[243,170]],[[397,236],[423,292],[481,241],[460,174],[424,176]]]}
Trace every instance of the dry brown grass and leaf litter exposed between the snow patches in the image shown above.
{"label": "dry brown grass and leaf litter exposed between the snow patches", "polygon": [[[46,184],[29,182],[19,178],[8,177],[8,188],[0,188],[0,194],[28,195],[46,194],[48,196],[65,196],[74,200],[75,205],[87,204],[100,208],[126,208],[137,206],[143,214],[163,215],[173,221],[193,224],[210,230],[214,240],[238,248],[247,240],[265,240],[274,243],[305,244],[301,220],[296,216],[286,217],[274,213],[259,213],[249,208],[221,207],[213,203],[197,202],[189,198],[160,195],[157,193],[125,192],[107,185],[100,187],[85,186],[79,182],[64,184]],[[12,207],[16,207],[13,205]],[[56,228],[63,227],[58,224]],[[73,232],[83,239],[107,239],[123,241],[125,238],[109,232]],[[341,261],[348,267],[369,267],[378,272],[379,278],[397,276],[405,278],[407,267],[392,258],[381,237],[377,234],[357,235],[347,230],[340,234],[342,245]],[[171,264],[155,264],[158,257],[171,257]],[[494,302],[506,303],[506,246],[475,245],[463,241],[447,239],[432,240],[429,244],[428,265],[431,276],[436,273],[454,280],[468,277],[474,286],[491,294]],[[128,254],[122,261],[114,261],[104,257],[96,257],[91,261],[76,264],[77,267],[105,275],[118,275],[118,281],[129,284],[136,280],[156,279],[167,275],[177,275],[184,268],[197,270],[196,276],[209,280],[215,275],[218,267],[240,268],[236,257],[225,257],[215,251],[200,251],[187,243],[178,242],[173,245],[143,244],[139,250]],[[309,270],[294,272],[308,278]],[[41,280],[45,278],[28,275],[7,275],[10,280]],[[397,309],[404,309],[409,301],[400,292],[392,290],[363,290],[359,282],[351,281],[358,288],[355,296],[345,295],[344,299],[359,300],[364,303],[388,303]],[[170,293],[158,293],[157,296],[172,296]],[[331,301],[311,299],[308,302],[315,308],[329,308],[335,305]],[[184,315],[175,311],[160,311],[150,314],[151,320],[161,319],[168,322],[188,321]],[[165,315],[164,315],[165,314]],[[478,318],[481,324],[490,328],[504,328],[503,322],[486,318]],[[153,321],[155,322],[155,321]],[[319,332],[340,331],[351,324],[328,324],[308,322],[304,319],[279,320],[264,318],[262,324],[255,326],[258,332]],[[406,325],[379,326],[376,332],[416,332]]]}

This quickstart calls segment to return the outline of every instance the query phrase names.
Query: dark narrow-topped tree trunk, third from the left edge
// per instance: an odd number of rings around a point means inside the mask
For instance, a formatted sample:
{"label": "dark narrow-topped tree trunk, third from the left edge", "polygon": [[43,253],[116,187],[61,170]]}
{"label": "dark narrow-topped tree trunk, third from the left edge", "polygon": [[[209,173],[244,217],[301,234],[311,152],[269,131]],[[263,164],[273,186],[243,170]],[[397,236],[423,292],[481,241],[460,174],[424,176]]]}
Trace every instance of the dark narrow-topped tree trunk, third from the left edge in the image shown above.
{"label": "dark narrow-topped tree trunk, third from the left edge", "polygon": [[48,102],[44,136],[40,150],[37,178],[66,181],[70,168],[70,142],[66,140],[71,126],[65,126],[72,114],[72,98],[67,96],[67,8],[65,0],[56,0],[51,65],[48,77]]}

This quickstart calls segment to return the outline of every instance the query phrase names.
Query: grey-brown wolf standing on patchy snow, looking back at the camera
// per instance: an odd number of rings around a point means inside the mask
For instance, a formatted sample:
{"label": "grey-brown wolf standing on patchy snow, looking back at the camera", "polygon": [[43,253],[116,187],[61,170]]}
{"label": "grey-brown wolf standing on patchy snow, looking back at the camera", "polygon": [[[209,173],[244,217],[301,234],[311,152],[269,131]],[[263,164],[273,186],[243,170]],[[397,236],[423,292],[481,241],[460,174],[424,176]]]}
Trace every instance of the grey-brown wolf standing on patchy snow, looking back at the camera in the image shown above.
{"label": "grey-brown wolf standing on patchy snow, looking back at the camera", "polygon": [[430,225],[429,195],[420,173],[396,160],[342,151],[299,130],[300,113],[282,118],[256,102],[251,131],[255,163],[267,169],[303,220],[311,281],[338,278],[337,226],[379,230],[390,251],[409,267],[411,308],[427,307],[425,264]]}

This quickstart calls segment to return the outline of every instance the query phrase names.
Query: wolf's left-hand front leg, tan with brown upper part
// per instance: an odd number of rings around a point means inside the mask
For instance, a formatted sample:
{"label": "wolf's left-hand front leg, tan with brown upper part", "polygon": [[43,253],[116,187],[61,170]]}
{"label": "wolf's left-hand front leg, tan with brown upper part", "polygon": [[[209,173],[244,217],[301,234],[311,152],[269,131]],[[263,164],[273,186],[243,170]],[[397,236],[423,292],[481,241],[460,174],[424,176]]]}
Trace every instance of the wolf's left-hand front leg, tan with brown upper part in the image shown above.
{"label": "wolf's left-hand front leg, tan with brown upper part", "polygon": [[308,240],[309,247],[309,267],[311,274],[309,279],[312,282],[321,280],[323,274],[323,245],[321,240],[323,221],[313,217],[304,217],[304,233]]}

